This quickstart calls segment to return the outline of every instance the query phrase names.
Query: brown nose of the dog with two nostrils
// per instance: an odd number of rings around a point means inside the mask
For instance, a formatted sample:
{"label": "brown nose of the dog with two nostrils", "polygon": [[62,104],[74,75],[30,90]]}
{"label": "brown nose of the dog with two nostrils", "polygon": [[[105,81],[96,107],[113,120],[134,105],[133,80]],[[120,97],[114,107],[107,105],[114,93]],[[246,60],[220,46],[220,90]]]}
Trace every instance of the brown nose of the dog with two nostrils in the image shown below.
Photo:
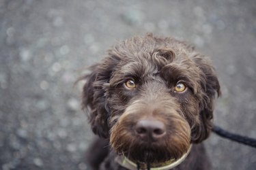
{"label": "brown nose of the dog with two nostrils", "polygon": [[157,141],[166,134],[166,128],[159,120],[143,119],[135,125],[135,132],[144,141]]}

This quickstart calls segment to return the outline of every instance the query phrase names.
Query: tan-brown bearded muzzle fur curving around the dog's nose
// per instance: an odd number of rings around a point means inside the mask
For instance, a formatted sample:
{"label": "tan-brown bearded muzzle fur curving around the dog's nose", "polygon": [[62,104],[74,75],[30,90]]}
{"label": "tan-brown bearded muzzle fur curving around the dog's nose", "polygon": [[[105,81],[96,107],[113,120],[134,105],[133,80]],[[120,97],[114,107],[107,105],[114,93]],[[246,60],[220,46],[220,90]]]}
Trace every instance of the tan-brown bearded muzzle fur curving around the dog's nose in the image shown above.
{"label": "tan-brown bearded muzzle fur curving around the dog's nose", "polygon": [[[170,118],[169,118],[170,119]],[[180,116],[173,116],[167,125],[167,135],[158,141],[143,141],[133,133],[133,118],[122,118],[111,129],[110,142],[118,154],[137,163],[163,163],[178,159],[190,146],[190,126]]]}

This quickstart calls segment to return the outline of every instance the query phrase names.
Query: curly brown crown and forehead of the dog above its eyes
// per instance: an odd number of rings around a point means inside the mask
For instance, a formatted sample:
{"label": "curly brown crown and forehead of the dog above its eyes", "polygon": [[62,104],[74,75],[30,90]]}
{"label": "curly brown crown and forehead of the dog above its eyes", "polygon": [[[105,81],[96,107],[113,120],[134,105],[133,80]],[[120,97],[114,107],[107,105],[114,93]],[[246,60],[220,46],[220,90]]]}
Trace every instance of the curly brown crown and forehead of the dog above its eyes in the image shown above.
{"label": "curly brown crown and forehead of the dog above its eyes", "polygon": [[[118,84],[128,78],[158,78],[171,82],[179,78],[199,80],[201,71],[195,63],[194,48],[176,39],[134,37],[122,41],[109,51],[109,57],[118,56],[110,83]],[[175,78],[173,78],[175,77]]]}

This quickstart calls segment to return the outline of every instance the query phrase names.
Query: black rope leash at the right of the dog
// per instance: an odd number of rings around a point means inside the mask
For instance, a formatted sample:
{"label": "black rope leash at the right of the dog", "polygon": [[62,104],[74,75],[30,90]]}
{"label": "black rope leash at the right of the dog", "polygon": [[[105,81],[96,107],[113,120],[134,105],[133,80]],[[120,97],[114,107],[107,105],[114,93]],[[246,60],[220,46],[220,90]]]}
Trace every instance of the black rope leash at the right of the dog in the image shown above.
{"label": "black rope leash at the right of the dog", "polygon": [[243,143],[246,146],[251,146],[253,148],[256,148],[256,139],[253,139],[251,137],[244,137],[242,135],[230,133],[228,131],[225,131],[224,129],[221,129],[219,126],[214,126],[212,128],[212,131],[214,133],[216,133],[217,135],[220,135],[221,137],[224,137],[226,139],[230,139],[230,140],[236,141],[238,143]]}

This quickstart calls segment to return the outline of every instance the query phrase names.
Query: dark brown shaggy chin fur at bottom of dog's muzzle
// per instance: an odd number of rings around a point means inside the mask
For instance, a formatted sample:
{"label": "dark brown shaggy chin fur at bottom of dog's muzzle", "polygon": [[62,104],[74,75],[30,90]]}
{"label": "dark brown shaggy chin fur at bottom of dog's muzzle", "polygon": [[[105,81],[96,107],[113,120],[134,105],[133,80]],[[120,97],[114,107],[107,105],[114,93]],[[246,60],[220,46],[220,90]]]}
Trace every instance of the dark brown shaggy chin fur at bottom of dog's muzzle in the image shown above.
{"label": "dark brown shaggy chin fur at bottom of dog's muzzle", "polygon": [[[122,142],[122,139],[119,140]],[[113,145],[113,149],[117,154],[124,154],[127,158],[134,163],[165,163],[169,160],[177,160],[181,158],[190,147],[189,137],[182,142],[173,143],[173,138],[162,141],[147,142],[136,139],[136,137],[130,137],[131,143],[119,145],[116,147]]]}

